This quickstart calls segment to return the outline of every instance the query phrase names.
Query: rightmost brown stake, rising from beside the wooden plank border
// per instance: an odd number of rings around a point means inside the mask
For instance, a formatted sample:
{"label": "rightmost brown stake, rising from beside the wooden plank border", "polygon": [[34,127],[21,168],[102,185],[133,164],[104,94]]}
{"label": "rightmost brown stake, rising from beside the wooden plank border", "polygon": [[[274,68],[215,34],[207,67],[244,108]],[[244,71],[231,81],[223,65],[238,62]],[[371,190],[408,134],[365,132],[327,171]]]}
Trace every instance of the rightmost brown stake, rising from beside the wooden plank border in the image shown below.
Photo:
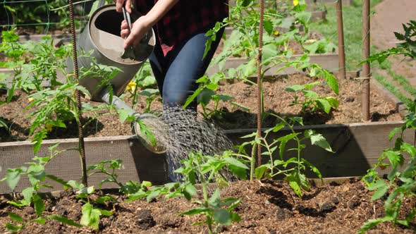
{"label": "rightmost brown stake, rising from beside the wooden plank border", "polygon": [[[369,0],[363,0],[362,2],[362,58],[367,59],[370,45]],[[361,77],[369,78],[370,76],[369,63],[364,63]],[[362,80],[361,101],[362,120],[369,121],[369,79]]]}

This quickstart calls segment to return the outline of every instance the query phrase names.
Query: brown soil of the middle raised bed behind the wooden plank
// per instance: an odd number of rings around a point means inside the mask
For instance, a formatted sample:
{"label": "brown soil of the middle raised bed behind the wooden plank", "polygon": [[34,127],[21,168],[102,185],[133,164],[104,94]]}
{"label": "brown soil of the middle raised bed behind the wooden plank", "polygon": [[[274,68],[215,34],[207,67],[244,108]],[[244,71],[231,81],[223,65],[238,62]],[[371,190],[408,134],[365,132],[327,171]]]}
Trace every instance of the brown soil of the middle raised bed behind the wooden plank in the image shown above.
{"label": "brown soil of the middle raised bed behind the wooden plank", "polygon": [[[286,92],[284,89],[290,85],[305,84],[312,82],[314,79],[307,75],[290,75],[271,78],[264,81],[264,109],[272,113],[278,113],[281,116],[302,116],[305,125],[325,124],[325,123],[359,123],[361,121],[360,113],[360,82],[356,80],[338,80],[340,87],[340,94],[337,99],[340,102],[338,109],[332,110],[330,113],[322,111],[305,111],[301,113],[300,106],[290,106],[293,101],[293,93]],[[327,85],[318,85],[314,89],[321,97],[336,96],[331,92]],[[214,116],[212,119],[225,129],[236,128],[256,128],[256,87],[248,85],[244,82],[235,81],[219,86],[218,92],[221,94],[229,94],[234,97],[233,100],[238,104],[247,106],[250,111],[238,109],[229,103],[220,102],[219,109],[222,113]],[[4,101],[5,93],[0,92],[0,101]],[[128,95],[126,95],[127,102],[130,102]],[[87,101],[87,100],[84,100]],[[31,126],[30,118],[27,115],[34,109],[27,109],[25,107],[29,104],[27,94],[21,90],[16,90],[16,96],[8,104],[0,105],[0,118],[3,118],[10,130],[0,128],[0,142],[16,141],[27,139],[29,128]],[[93,103],[98,104],[98,103]],[[210,104],[209,108],[214,108],[214,104]],[[145,109],[145,101],[142,99],[135,109],[142,113]],[[161,110],[161,102],[154,101],[152,105],[153,111]],[[201,112],[201,109],[199,109]],[[399,121],[401,116],[396,113],[395,104],[384,100],[381,94],[374,87],[371,90],[371,106],[370,106],[372,121]],[[85,136],[87,137],[102,137],[114,135],[131,135],[132,130],[130,123],[120,123],[116,113],[110,113],[103,110],[100,113],[87,113],[86,116],[96,116],[98,118],[90,119],[90,124],[87,125]],[[266,118],[264,120],[264,127],[271,127],[276,123],[274,118]],[[68,138],[77,137],[77,127],[75,123],[68,122],[67,128],[53,128],[49,133],[49,138]]]}

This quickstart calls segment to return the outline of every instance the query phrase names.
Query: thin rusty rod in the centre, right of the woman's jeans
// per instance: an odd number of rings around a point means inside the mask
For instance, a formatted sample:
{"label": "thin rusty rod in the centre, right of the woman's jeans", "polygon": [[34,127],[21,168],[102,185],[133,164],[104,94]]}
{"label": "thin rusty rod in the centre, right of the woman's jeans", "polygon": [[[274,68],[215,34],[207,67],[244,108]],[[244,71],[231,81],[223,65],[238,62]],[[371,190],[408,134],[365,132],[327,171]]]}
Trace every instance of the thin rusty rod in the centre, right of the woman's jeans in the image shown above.
{"label": "thin rusty rod in the centre, right of the woman's jeans", "polygon": [[[259,53],[257,54],[257,137],[262,137],[262,51],[264,0],[260,1]],[[257,166],[262,165],[262,147],[257,145]]]}

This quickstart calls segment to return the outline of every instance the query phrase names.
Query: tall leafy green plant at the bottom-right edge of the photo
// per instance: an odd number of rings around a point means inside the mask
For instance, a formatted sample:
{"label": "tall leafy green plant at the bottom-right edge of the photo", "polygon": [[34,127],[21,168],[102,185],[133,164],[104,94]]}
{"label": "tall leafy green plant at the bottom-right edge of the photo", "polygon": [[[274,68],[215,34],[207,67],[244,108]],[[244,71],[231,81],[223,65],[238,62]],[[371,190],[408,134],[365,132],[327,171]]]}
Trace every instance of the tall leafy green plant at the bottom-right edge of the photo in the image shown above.
{"label": "tall leafy green plant at the bottom-right edge of the photo", "polygon": [[[416,197],[416,147],[403,140],[405,130],[416,130],[416,100],[408,106],[408,115],[405,116],[405,123],[400,128],[394,128],[389,134],[389,140],[399,133],[393,148],[385,149],[379,157],[377,164],[367,171],[362,180],[368,185],[368,190],[374,191],[372,200],[387,197],[384,201],[384,217],[369,219],[365,222],[359,233],[377,226],[379,223],[392,222],[410,228],[410,223],[416,216],[416,208],[412,207],[405,218],[400,218],[403,201],[406,198]],[[405,165],[405,155],[410,156],[410,161]],[[386,162],[388,161],[388,162]],[[399,172],[403,167],[403,172]],[[376,168],[385,169],[391,167],[391,171],[384,178],[380,178]]]}

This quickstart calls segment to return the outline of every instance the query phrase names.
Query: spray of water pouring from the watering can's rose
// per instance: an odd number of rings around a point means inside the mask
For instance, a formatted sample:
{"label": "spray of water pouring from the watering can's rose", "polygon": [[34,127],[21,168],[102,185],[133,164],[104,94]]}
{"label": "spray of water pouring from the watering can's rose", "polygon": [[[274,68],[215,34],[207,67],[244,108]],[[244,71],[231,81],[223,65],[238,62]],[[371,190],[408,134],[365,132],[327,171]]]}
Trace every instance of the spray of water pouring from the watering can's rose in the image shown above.
{"label": "spray of water pouring from the watering can's rose", "polygon": [[[181,107],[164,109],[161,117],[147,123],[158,144],[166,147],[169,179],[180,181],[181,175],[174,173],[181,167],[181,160],[187,159],[191,151],[202,152],[203,155],[222,154],[231,149],[231,140],[219,127],[197,116],[195,111]],[[226,180],[231,180],[229,173],[223,172]]]}

